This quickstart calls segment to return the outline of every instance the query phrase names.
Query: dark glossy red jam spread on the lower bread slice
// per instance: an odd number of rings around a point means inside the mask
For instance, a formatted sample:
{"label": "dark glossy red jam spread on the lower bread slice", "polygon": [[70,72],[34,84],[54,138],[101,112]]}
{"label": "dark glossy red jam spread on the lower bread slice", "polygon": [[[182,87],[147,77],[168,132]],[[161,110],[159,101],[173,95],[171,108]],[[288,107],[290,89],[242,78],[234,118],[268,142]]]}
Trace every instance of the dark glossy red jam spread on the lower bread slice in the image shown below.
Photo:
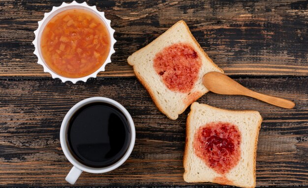
{"label": "dark glossy red jam spread on the lower bread slice", "polygon": [[227,122],[212,122],[194,135],[194,152],[217,173],[225,174],[240,161],[241,133]]}

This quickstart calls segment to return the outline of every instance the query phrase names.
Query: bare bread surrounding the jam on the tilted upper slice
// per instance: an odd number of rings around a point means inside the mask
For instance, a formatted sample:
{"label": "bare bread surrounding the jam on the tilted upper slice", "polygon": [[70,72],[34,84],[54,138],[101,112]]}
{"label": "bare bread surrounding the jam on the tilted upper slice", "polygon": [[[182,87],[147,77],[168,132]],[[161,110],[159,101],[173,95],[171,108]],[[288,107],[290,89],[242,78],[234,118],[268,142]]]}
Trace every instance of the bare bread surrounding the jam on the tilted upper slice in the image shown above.
{"label": "bare bread surrounding the jam on the tilted upper slice", "polygon": [[[155,55],[165,47],[176,43],[191,45],[202,61],[197,81],[189,93],[168,89],[154,70]],[[202,83],[203,75],[212,71],[223,73],[203,51],[184,21],[177,22],[146,47],[130,55],[127,61],[133,66],[136,77],[148,90],[158,109],[173,120],[177,119],[192,102],[209,91]]]}

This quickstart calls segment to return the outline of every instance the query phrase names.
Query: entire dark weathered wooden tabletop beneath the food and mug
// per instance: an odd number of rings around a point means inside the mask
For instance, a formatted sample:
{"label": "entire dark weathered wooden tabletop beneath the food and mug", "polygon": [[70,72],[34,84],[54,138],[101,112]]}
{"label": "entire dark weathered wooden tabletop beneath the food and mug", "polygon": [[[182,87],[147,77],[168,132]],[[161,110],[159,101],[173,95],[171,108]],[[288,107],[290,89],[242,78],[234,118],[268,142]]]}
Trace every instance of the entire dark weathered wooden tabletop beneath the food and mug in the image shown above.
{"label": "entire dark weathered wooden tabletop beneath the food and mug", "polygon": [[[78,0],[79,1],[79,0]],[[82,1],[79,1],[82,2]],[[76,186],[196,187],[183,181],[185,120],[154,106],[127,57],[180,19],[227,75],[258,92],[296,103],[282,109],[242,96],[208,93],[198,102],[260,111],[257,186],[308,186],[308,1],[88,0],[116,30],[116,54],[86,83],[53,80],[36,64],[33,31],[60,0],[0,0],[0,186],[68,187],[72,165],[59,132],[80,100],[104,96],[127,108],[136,126],[130,158],[105,174],[83,173]]]}

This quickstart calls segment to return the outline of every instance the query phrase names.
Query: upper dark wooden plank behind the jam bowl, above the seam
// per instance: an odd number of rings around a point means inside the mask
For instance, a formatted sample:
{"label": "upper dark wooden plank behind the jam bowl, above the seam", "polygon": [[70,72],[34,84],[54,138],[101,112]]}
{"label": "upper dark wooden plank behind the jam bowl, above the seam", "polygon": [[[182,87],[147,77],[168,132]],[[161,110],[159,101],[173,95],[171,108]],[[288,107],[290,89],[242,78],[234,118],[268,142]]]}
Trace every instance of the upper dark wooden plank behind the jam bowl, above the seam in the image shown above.
{"label": "upper dark wooden plank behind the jam bowl, above the seam", "polygon": [[[87,2],[105,11],[118,41],[100,77],[133,76],[127,57],[181,19],[227,75],[308,76],[307,0]],[[36,64],[31,42],[37,21],[61,3],[0,0],[0,76],[50,77]]]}

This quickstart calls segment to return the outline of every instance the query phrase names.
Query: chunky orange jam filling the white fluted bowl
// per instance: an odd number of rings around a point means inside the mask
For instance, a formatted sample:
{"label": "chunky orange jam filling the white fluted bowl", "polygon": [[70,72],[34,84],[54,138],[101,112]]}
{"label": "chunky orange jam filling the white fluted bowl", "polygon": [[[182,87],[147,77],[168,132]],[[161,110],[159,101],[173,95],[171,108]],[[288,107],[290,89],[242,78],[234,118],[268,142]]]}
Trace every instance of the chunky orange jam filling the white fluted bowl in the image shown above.
{"label": "chunky orange jam filling the white fluted bowl", "polygon": [[50,19],[40,38],[45,64],[65,78],[82,78],[97,71],[111,48],[105,22],[89,10],[72,8]]}

